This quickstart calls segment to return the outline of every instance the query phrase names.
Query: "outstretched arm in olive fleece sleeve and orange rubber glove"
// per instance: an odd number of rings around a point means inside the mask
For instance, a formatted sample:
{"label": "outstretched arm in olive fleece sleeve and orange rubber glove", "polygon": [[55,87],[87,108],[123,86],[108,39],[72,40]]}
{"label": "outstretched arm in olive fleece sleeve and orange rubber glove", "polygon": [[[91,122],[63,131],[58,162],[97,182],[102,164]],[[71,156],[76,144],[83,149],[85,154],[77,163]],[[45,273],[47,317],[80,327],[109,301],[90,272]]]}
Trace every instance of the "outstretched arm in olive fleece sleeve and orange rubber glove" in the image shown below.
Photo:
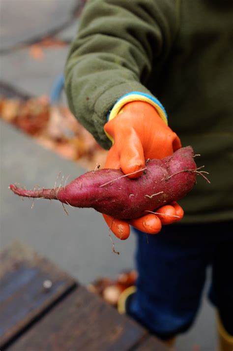
{"label": "outstretched arm in olive fleece sleeve and orange rubber glove", "polygon": [[[154,70],[159,71],[159,67],[168,57],[176,30],[176,7],[175,1],[172,0],[87,2],[79,33],[72,44],[66,64],[66,93],[71,111],[100,145],[110,148],[111,141],[115,140],[108,156],[108,167],[121,166],[118,161],[119,164],[115,162],[121,157],[116,140],[122,139],[118,145],[124,144],[125,150],[138,152],[134,145],[132,146],[132,138],[125,138],[124,133],[119,131],[118,127],[123,118],[119,117],[119,123],[117,118],[114,121],[122,108],[126,115],[129,115],[124,106],[132,101],[144,101],[144,104],[146,102],[148,108],[145,107],[145,110],[150,111],[144,116],[146,118],[143,118],[145,113],[140,115],[137,109],[131,113],[130,118],[126,116],[129,124],[134,120],[133,115],[137,116],[138,126],[131,127],[139,127],[139,130],[142,128],[142,133],[139,133],[140,143],[142,141],[141,154],[144,156],[141,168],[145,164],[145,158],[162,158],[163,153],[166,156],[171,154],[174,143],[175,149],[180,147],[179,138],[167,127],[165,109],[145,86],[152,71],[153,74]],[[113,122],[106,125],[108,117],[113,119]],[[147,123],[151,119],[155,121],[152,125]],[[107,133],[104,131],[105,125]],[[130,125],[128,127],[131,129]],[[153,140],[155,131],[158,138],[153,142],[153,152],[147,153],[141,136],[144,134],[145,140]],[[161,133],[164,135],[159,138]],[[132,160],[128,157],[127,161],[123,162],[127,163],[127,169],[131,166],[135,168],[132,161],[134,162],[138,155],[134,155],[133,152],[131,156]],[[180,219],[183,216],[182,209],[177,204],[175,207],[167,207],[162,207],[160,212],[168,216],[158,219],[155,215],[148,214],[130,224],[145,232],[156,233],[160,230],[161,223],[172,223],[177,221],[177,215]],[[173,215],[169,217],[171,213]],[[129,235],[129,223],[119,220],[113,222],[113,218],[104,217],[118,237],[126,238]]]}

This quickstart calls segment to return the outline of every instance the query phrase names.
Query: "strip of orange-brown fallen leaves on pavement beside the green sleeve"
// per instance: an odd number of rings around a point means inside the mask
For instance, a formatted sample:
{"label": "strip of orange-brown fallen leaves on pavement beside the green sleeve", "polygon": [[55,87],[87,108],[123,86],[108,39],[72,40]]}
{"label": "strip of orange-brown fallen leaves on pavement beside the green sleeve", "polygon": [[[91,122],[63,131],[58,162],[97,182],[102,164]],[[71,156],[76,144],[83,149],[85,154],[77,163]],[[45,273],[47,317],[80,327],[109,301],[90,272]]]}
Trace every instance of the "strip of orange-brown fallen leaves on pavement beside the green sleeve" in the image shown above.
{"label": "strip of orange-brown fallen leaves on pavement beside the green sleeve", "polygon": [[48,96],[27,100],[0,97],[0,117],[31,135],[43,147],[78,161],[87,170],[105,164],[107,151],[67,107],[50,106]]}

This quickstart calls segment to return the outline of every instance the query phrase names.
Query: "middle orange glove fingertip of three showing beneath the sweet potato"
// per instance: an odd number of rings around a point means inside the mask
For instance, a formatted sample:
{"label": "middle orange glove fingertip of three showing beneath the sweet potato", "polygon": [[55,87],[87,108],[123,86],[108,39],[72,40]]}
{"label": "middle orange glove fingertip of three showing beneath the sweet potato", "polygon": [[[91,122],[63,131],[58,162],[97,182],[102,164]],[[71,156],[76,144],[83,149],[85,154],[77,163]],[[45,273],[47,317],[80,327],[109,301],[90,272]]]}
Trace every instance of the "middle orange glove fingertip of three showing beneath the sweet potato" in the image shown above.
{"label": "middle orange glove fingertip of three showing beneath the sweet potato", "polygon": [[143,217],[130,220],[129,223],[134,228],[147,234],[157,234],[162,227],[160,219],[151,213]]}

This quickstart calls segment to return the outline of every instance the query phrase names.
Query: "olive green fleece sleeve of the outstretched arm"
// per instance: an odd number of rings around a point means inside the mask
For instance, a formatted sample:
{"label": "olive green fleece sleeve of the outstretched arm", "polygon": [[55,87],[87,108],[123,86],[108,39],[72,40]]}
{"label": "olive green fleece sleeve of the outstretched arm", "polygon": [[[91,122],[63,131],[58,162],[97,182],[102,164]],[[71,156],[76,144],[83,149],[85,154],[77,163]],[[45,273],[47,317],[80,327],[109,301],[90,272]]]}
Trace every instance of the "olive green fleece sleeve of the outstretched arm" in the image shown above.
{"label": "olive green fleece sleeve of the outstretched arm", "polygon": [[72,113],[102,147],[111,146],[103,127],[122,96],[155,98],[146,82],[168,57],[177,26],[175,0],[87,1],[65,65],[65,90]]}

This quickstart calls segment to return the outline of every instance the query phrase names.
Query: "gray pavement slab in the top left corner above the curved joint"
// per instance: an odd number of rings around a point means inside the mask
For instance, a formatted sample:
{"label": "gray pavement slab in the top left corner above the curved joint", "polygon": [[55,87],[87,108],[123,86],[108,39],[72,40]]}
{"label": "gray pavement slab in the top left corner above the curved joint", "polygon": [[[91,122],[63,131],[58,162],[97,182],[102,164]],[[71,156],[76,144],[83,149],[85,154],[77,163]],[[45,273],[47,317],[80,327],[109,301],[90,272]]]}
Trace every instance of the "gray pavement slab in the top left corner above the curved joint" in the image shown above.
{"label": "gray pavement slab in the top left corner above the curved joint", "polygon": [[43,37],[70,22],[79,0],[0,0],[0,49]]}

